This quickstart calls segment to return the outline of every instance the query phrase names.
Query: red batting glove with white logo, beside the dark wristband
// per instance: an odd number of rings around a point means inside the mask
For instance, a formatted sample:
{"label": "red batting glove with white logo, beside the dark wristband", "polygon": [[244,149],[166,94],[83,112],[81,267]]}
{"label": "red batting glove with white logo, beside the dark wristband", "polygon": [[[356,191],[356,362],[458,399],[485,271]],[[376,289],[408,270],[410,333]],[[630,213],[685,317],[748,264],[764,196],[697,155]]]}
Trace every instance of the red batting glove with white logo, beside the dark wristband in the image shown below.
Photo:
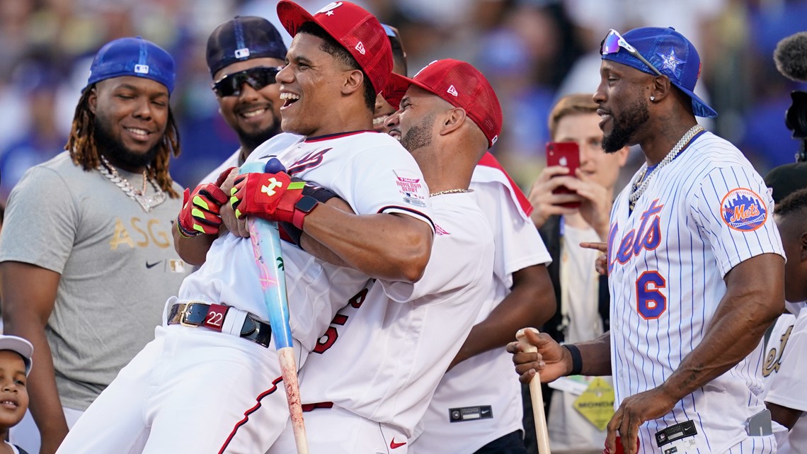
{"label": "red batting glove with white logo, beside the dark wristband", "polygon": [[258,216],[266,221],[292,222],[305,182],[292,182],[286,172],[244,174],[230,191],[236,217]]}

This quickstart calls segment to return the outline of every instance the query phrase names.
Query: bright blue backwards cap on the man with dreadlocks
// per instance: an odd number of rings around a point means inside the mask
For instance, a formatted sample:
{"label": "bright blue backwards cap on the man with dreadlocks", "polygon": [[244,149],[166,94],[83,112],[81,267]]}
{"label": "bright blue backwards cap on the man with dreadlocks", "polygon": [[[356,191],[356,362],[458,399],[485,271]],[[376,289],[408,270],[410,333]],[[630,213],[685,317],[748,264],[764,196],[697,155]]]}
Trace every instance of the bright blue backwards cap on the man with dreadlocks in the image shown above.
{"label": "bright blue backwards cap on the man with dreadlocks", "polygon": [[[95,54],[87,87],[95,82],[122,76],[136,76],[160,82],[168,93],[174,91],[174,58],[163,48],[140,36],[119,38],[105,44]],[[82,90],[83,91],[83,90]]]}

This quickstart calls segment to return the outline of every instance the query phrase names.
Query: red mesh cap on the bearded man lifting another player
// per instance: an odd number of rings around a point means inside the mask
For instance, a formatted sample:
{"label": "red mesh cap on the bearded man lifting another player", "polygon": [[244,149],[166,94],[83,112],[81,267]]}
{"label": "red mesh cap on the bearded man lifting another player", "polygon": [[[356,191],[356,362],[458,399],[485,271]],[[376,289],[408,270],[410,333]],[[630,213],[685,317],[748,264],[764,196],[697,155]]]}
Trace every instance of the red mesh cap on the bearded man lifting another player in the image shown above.
{"label": "red mesh cap on the bearded man lifting another player", "polygon": [[470,63],[465,61],[432,61],[420,69],[414,78],[392,74],[384,87],[383,96],[392,107],[398,108],[409,86],[416,85],[448,101],[454,107],[462,107],[471,120],[487,137],[490,148],[502,130],[502,108],[490,82]]}

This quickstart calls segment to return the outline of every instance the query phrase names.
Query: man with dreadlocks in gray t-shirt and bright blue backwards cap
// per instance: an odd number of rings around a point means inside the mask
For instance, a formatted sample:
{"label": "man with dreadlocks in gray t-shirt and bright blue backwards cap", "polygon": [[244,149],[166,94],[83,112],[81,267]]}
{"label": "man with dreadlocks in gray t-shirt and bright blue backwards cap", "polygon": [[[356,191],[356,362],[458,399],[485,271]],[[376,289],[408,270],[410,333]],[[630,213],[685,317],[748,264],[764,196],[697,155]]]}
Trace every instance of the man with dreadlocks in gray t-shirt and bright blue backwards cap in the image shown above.
{"label": "man with dreadlocks in gray t-shirt and bright blue backwards cap", "polygon": [[[56,452],[77,418],[154,337],[190,271],[171,245],[182,188],[169,106],[174,59],[140,37],[96,54],[65,151],[11,191],[0,246],[6,334],[36,347],[30,419],[10,431]],[[41,435],[41,450],[40,450]]]}

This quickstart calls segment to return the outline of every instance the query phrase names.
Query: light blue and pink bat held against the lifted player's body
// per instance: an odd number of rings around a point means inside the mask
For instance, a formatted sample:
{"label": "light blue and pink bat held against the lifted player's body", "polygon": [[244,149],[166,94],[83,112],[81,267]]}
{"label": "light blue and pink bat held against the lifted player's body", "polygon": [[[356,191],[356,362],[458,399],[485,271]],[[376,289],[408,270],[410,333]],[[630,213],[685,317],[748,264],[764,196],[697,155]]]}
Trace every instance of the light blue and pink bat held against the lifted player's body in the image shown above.
{"label": "light blue and pink bat held against the lifted player's body", "polygon": [[[248,162],[241,166],[239,173],[263,173],[263,162]],[[270,222],[256,216],[247,217],[249,239],[252,241],[255,263],[261,279],[264,303],[269,312],[269,323],[272,326],[275,351],[278,353],[280,373],[289,402],[291,428],[295,434],[298,454],[308,454],[308,441],[303,422],[303,405],[300,401],[299,382],[297,380],[297,364],[295,361],[294,341],[289,326],[289,305],[286,299],[286,272],[283,267],[283,256],[280,250],[280,233],[278,223]]]}

